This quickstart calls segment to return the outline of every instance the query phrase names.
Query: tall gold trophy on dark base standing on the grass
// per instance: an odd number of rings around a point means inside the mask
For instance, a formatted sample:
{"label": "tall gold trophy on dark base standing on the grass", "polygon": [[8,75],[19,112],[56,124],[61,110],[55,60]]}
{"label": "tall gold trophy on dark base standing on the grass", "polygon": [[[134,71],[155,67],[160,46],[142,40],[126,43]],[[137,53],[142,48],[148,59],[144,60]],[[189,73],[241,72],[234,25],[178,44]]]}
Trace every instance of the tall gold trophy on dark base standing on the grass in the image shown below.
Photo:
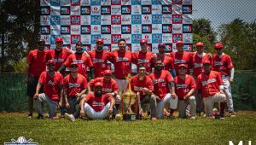
{"label": "tall gold trophy on dark base standing on the grass", "polygon": [[[128,77],[126,77],[125,79],[128,81],[128,85],[125,92],[122,94],[121,100],[123,120],[133,121],[136,120],[137,98],[136,94],[133,91],[131,91],[131,74],[128,74]],[[131,109],[132,105],[134,105],[133,111]]]}

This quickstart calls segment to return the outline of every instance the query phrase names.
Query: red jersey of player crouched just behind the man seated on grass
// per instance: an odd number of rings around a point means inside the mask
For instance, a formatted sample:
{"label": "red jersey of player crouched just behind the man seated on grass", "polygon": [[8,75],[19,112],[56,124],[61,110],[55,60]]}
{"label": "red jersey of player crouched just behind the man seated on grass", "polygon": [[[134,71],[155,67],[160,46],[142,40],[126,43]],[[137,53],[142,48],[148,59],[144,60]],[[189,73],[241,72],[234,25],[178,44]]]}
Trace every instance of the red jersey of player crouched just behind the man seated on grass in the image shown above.
{"label": "red jersey of player crouched just behind the man seated on grass", "polygon": [[103,94],[111,93],[113,91],[116,91],[116,92],[119,91],[118,85],[113,78],[111,78],[108,82],[104,81],[104,77],[91,79],[90,86],[94,88],[94,85],[96,84],[96,82],[101,82],[103,84],[103,87],[102,87]]}

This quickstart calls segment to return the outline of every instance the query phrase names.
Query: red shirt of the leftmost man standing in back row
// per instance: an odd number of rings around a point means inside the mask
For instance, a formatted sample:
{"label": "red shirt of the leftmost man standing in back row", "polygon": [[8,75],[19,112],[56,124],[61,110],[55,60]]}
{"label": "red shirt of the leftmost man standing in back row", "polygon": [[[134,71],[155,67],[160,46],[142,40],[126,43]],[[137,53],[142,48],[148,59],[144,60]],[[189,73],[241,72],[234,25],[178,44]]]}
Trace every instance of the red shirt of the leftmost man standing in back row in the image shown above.
{"label": "red shirt of the leftmost man standing in back row", "polygon": [[46,61],[48,55],[47,49],[38,52],[38,49],[31,50],[26,56],[26,62],[30,64],[28,75],[39,77],[46,70]]}

